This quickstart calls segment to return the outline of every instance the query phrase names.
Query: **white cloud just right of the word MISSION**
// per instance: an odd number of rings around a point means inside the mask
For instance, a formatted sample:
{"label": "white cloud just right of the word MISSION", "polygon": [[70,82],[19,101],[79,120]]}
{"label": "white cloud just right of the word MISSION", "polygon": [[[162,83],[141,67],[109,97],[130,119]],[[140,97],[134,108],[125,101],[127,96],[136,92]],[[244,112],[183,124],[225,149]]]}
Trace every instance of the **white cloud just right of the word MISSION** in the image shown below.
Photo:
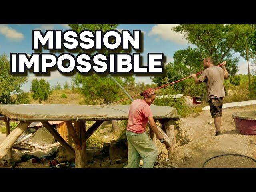
{"label": "white cloud just right of the word MISSION", "polygon": [[160,38],[174,41],[176,44],[188,44],[188,41],[183,38],[182,34],[176,33],[172,30],[172,27],[175,26],[178,26],[178,24],[156,24],[152,27],[148,36],[158,35]]}

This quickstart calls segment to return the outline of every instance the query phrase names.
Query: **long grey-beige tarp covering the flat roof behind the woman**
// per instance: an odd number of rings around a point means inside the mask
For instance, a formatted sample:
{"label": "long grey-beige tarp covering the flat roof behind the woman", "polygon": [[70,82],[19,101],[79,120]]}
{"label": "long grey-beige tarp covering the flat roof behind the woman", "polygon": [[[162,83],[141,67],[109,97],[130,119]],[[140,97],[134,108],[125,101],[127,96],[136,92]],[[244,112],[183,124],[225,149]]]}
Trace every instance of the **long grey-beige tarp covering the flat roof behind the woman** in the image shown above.
{"label": "long grey-beige tarp covering the flat roof behind the woman", "polygon": [[[125,120],[130,105],[89,106],[74,104],[0,105],[0,113],[11,120]],[[150,106],[156,119],[179,119],[176,108]]]}

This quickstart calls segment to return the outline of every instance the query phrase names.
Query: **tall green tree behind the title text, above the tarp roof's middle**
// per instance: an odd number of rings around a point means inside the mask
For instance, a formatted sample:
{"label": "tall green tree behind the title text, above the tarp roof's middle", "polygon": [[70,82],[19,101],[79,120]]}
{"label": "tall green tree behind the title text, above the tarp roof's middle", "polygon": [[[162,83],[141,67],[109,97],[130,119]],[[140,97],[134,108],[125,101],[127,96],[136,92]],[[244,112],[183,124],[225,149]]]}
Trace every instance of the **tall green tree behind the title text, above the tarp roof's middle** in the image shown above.
{"label": "tall green tree behind the title text, above the tarp roof's middle", "polygon": [[[69,26],[78,33],[88,29],[106,32],[107,30],[115,29],[118,24],[69,24]],[[82,52],[82,50],[79,52]],[[108,54],[107,50],[100,50],[98,52]],[[134,77],[114,76],[114,78],[123,86],[134,85]],[[98,76],[97,74],[83,76],[82,74],[76,74],[72,78],[72,84],[78,87],[78,90],[84,95],[86,104],[110,104],[122,97],[120,88],[109,76]]]}

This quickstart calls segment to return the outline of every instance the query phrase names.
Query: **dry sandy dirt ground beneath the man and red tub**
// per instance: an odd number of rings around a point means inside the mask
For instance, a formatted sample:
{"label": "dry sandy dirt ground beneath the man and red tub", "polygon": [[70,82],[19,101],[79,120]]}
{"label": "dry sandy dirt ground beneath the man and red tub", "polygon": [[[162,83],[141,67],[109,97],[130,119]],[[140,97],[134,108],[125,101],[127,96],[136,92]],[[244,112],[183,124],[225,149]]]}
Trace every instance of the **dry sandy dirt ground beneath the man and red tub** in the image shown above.
{"label": "dry sandy dirt ground beneath the man and red tub", "polygon": [[[206,160],[221,154],[242,154],[256,159],[256,136],[236,132],[233,112],[256,110],[256,106],[223,109],[222,134],[214,136],[210,111],[192,114],[179,121],[176,149],[158,167],[201,168]],[[208,122],[212,120],[212,124]],[[242,156],[221,156],[208,161],[206,168],[256,168],[256,162]]]}

